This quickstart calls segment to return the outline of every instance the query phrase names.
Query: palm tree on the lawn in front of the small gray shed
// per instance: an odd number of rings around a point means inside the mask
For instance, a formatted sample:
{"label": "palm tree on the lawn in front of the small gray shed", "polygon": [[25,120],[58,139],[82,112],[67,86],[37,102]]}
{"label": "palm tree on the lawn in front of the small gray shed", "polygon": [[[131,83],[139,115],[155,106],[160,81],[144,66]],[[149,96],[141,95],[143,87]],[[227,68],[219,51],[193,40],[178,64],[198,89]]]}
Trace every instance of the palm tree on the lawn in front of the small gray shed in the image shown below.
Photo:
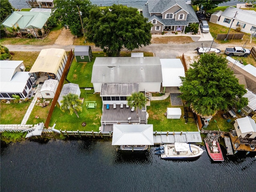
{"label": "palm tree on the lawn in front of the small gray shed", "polygon": [[60,106],[62,112],[68,111],[70,115],[75,112],[76,116],[79,118],[77,111],[82,111],[82,101],[78,98],[78,95],[69,93],[63,96],[63,99],[60,102],[62,103]]}

